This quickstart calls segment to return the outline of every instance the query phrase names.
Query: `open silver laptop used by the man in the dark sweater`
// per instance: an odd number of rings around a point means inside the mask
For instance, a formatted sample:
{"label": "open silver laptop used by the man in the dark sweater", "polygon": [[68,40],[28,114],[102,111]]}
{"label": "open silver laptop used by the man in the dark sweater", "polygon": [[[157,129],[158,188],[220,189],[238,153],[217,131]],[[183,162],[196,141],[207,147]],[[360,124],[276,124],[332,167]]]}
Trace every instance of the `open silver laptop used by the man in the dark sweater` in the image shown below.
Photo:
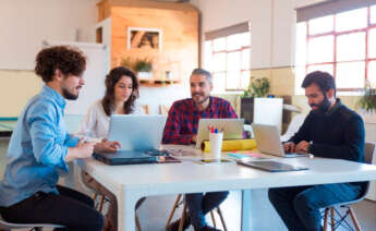
{"label": "open silver laptop used by the man in the dark sweater", "polygon": [[280,157],[303,157],[307,154],[284,153],[281,137],[276,125],[252,124],[253,133],[257,144],[257,149],[263,154],[275,155]]}

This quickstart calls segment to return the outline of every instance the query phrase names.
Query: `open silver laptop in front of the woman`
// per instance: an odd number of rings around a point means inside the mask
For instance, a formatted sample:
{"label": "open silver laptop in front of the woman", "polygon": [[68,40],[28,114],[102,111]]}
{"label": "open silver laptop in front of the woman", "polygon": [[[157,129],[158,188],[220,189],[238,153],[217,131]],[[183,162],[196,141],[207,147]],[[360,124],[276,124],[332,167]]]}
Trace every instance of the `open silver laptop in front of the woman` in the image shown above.
{"label": "open silver laptop in front of the woman", "polygon": [[109,141],[118,141],[120,150],[159,149],[166,119],[166,115],[113,114]]}

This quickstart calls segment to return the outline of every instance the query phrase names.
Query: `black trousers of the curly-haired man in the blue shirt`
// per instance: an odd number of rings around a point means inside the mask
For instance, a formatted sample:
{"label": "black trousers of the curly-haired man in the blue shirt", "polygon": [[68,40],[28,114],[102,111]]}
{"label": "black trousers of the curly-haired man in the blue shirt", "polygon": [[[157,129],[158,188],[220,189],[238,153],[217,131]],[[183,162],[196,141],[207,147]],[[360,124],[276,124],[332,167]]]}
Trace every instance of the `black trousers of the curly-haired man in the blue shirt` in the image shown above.
{"label": "black trousers of the curly-haired man in the blue shirt", "polygon": [[1,216],[14,223],[56,223],[61,231],[101,231],[104,217],[94,208],[94,200],[74,190],[57,186],[60,195],[38,192],[2,208]]}

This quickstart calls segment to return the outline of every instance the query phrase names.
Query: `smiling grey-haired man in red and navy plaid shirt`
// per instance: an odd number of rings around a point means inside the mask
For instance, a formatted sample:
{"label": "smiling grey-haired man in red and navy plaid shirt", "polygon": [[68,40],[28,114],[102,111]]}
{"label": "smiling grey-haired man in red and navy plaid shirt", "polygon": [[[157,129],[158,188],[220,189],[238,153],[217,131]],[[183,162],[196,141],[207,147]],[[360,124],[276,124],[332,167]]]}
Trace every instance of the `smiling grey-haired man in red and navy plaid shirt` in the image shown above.
{"label": "smiling grey-haired man in red and navy plaid shirt", "polygon": [[[189,145],[196,142],[201,118],[238,118],[231,105],[221,98],[209,96],[213,89],[211,74],[195,69],[191,78],[192,98],[175,101],[169,110],[163,132],[163,144]],[[192,223],[195,231],[218,231],[205,221],[205,215],[218,207],[229,192],[192,193],[185,195],[190,217],[184,219],[183,230]],[[178,231],[180,220],[169,227]]]}

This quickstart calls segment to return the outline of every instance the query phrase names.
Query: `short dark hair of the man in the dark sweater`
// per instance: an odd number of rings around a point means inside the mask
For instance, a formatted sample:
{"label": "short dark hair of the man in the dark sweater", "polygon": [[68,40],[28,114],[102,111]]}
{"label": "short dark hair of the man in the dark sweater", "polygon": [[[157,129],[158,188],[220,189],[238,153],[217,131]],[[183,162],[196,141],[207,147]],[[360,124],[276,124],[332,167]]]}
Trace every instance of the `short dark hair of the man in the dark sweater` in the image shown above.
{"label": "short dark hair of the man in the dark sweater", "polygon": [[305,76],[302,87],[306,88],[312,84],[316,84],[324,94],[329,89],[333,89],[336,96],[336,82],[331,74],[320,71],[311,72]]}

